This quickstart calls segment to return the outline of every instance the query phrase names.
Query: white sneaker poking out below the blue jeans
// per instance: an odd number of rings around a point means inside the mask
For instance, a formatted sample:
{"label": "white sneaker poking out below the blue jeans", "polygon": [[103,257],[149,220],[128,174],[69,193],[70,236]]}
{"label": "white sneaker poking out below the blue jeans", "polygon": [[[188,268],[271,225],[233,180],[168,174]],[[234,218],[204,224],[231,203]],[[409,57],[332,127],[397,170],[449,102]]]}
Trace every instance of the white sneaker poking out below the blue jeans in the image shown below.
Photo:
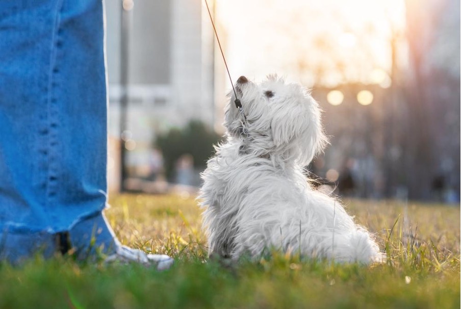
{"label": "white sneaker poking out below the blue jeans", "polygon": [[166,270],[173,265],[174,260],[166,254],[146,254],[139,249],[126,246],[117,246],[114,254],[106,258],[106,263],[140,263],[146,266],[155,266],[157,270]]}

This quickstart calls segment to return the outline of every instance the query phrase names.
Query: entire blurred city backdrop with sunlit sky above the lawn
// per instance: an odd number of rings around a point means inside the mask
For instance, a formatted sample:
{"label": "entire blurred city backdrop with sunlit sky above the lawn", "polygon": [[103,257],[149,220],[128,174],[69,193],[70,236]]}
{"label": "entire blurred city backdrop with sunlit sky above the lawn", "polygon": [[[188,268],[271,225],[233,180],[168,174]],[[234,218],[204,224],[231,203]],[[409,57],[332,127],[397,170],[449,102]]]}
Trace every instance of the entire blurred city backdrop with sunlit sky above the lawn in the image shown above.
{"label": "entire blurred city backdrop with sunlit sky above the lawn", "polygon": [[[231,76],[312,89],[342,196],[459,204],[458,0],[209,0]],[[109,190],[193,194],[231,89],[204,0],[106,1]]]}

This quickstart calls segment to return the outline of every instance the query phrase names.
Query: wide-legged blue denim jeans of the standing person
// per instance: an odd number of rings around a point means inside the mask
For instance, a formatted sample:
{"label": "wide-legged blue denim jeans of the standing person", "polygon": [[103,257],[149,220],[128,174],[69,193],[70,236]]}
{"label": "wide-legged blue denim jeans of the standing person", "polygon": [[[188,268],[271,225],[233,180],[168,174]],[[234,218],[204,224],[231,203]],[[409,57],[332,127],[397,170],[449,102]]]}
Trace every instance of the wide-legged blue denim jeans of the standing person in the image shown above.
{"label": "wide-legged blue denim jeans of the standing person", "polygon": [[0,5],[0,259],[88,249],[113,233],[101,0]]}

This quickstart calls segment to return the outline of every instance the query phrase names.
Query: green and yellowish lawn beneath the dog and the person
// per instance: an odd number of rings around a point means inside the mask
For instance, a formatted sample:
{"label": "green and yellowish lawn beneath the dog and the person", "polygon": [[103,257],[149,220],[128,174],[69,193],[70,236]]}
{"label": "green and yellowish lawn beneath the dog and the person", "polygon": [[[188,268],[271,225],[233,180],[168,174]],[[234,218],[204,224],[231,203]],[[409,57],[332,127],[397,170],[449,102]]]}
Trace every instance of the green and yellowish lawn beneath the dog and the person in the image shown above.
{"label": "green and yellowish lawn beneath the dog and the person", "polygon": [[208,261],[193,198],[112,196],[122,243],[175,257],[172,269],[35,259],[0,264],[0,308],[459,308],[460,211],[434,204],[346,201],[388,261],[370,267],[273,253]]}

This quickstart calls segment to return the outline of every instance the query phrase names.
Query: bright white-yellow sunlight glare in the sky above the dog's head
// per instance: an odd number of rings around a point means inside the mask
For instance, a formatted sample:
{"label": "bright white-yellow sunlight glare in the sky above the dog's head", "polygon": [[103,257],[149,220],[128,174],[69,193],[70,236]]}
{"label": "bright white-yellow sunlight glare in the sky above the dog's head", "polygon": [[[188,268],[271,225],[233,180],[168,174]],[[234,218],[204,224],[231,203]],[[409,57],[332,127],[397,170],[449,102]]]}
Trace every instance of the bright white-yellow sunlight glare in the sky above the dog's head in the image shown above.
{"label": "bright white-yellow sunlight glare in the sky above the dog's head", "polygon": [[391,85],[382,72],[379,83],[371,81],[372,71],[392,67],[391,39],[404,29],[404,0],[217,0],[215,6],[233,76],[260,80],[275,72],[326,87]]}

